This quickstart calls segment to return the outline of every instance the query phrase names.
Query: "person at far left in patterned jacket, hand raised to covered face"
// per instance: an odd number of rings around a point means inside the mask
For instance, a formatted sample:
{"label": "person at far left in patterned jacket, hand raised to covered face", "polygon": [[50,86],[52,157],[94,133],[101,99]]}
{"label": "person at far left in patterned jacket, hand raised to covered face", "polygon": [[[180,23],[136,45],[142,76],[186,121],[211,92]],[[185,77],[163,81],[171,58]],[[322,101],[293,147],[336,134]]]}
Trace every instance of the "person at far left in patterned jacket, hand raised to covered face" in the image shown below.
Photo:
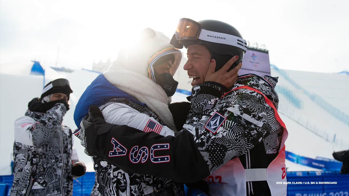
{"label": "person at far left in patterned jacket, hand raised to covered face", "polygon": [[72,195],[73,178],[85,174],[73,148],[72,131],[62,125],[72,92],[68,80],[51,81],[16,119],[10,195]]}

